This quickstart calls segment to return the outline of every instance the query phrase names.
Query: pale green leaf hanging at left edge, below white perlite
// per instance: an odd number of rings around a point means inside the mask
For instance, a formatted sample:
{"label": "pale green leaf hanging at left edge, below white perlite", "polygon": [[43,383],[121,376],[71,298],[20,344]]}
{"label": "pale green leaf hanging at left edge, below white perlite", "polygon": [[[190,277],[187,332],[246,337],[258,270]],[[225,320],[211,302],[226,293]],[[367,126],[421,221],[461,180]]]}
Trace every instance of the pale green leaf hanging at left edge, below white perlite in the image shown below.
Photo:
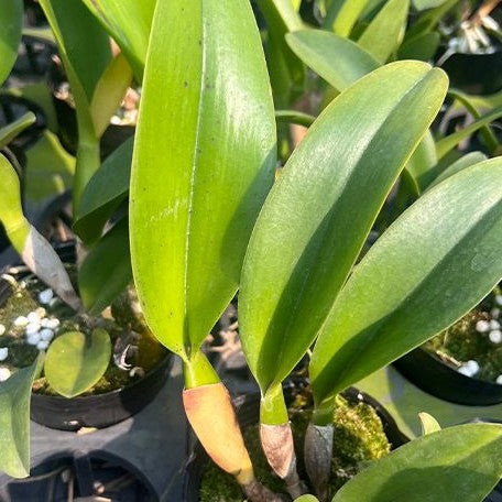
{"label": "pale green leaf hanging at left edge, below white perlite", "polygon": [[30,400],[42,364],[40,353],[31,367],[0,382],[0,471],[13,478],[30,476]]}

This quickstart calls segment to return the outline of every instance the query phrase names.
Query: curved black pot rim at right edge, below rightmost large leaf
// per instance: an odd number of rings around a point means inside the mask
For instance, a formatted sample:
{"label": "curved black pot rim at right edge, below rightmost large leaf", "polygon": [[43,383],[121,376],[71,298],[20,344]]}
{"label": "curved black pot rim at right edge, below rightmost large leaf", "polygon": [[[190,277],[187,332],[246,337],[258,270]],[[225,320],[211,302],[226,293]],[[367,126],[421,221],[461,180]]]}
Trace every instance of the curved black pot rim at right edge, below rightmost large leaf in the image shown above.
{"label": "curved black pot rim at right edge, below rightmost large leaf", "polygon": [[466,376],[422,348],[393,365],[417,388],[441,400],[471,406],[502,403],[502,385]]}

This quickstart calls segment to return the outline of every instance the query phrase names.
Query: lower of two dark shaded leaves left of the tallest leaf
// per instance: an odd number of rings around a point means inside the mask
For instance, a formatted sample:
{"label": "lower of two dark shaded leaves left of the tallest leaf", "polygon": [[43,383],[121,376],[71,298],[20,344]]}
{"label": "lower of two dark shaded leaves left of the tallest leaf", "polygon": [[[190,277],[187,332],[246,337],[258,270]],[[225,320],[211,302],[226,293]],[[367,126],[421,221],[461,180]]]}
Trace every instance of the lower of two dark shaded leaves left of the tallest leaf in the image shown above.
{"label": "lower of two dark shaded leaves left of the tallest leaf", "polygon": [[99,315],[132,280],[128,219],[118,222],[89,251],[78,271],[81,301]]}

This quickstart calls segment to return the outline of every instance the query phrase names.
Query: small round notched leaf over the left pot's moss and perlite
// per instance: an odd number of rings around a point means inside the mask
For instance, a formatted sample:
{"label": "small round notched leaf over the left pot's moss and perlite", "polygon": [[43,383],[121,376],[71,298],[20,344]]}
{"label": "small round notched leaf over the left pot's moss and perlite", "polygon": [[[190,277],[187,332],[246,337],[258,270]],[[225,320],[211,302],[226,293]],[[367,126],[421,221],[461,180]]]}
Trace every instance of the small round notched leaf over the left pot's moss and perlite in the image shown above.
{"label": "small round notched leaf over the left pot's moss and perlite", "polygon": [[45,378],[57,393],[75,397],[98,382],[110,358],[111,341],[105,329],[95,329],[90,336],[68,331],[55,338],[48,347]]}

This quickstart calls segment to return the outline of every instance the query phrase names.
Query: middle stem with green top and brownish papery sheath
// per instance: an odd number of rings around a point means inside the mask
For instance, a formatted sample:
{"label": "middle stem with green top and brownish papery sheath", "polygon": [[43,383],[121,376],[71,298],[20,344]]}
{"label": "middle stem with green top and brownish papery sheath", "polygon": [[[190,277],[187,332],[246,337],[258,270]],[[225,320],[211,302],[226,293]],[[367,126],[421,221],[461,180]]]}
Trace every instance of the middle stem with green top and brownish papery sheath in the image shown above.
{"label": "middle stem with green top and brownish papery sheath", "polygon": [[281,385],[269,390],[260,406],[260,438],[266,460],[293,499],[306,493],[296,469],[293,433]]}

